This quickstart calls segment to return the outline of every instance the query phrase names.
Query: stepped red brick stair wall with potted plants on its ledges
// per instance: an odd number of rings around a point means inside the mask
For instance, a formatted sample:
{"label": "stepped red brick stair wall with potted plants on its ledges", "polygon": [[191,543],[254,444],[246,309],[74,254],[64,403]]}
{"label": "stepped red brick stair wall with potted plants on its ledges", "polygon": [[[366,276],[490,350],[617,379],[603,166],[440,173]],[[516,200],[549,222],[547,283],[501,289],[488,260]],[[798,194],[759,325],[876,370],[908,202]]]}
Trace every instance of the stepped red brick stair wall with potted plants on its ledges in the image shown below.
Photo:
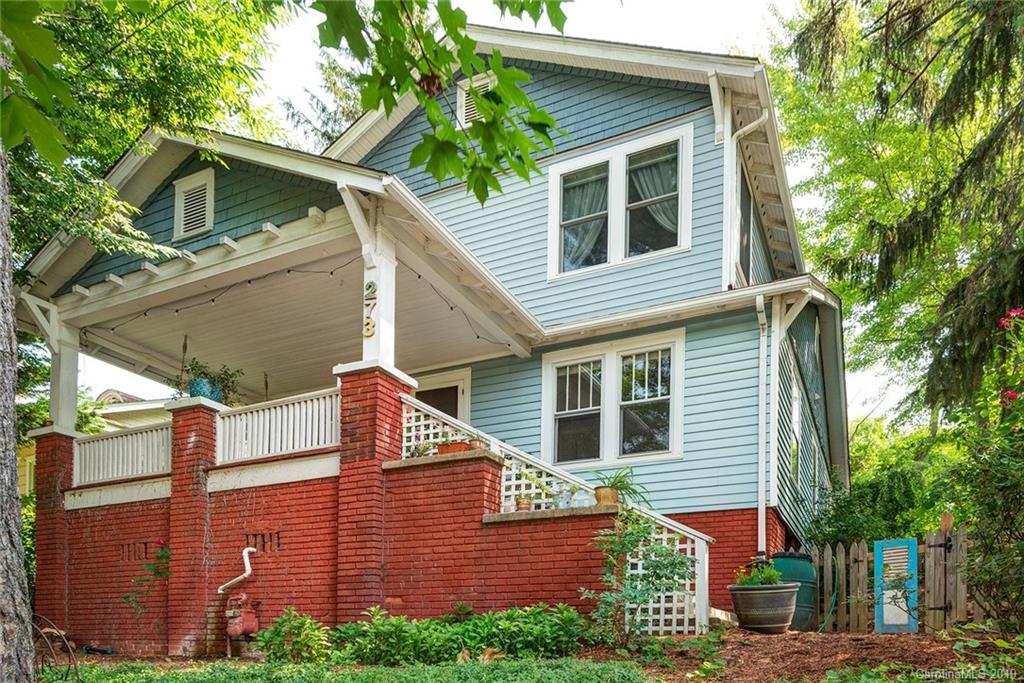
{"label": "stepped red brick stair wall with potted plants on its ledges", "polygon": [[395,613],[432,616],[458,601],[501,609],[539,601],[584,608],[602,558],[591,544],[610,515],[484,524],[500,508],[501,465],[452,461],[386,472],[384,589]]}

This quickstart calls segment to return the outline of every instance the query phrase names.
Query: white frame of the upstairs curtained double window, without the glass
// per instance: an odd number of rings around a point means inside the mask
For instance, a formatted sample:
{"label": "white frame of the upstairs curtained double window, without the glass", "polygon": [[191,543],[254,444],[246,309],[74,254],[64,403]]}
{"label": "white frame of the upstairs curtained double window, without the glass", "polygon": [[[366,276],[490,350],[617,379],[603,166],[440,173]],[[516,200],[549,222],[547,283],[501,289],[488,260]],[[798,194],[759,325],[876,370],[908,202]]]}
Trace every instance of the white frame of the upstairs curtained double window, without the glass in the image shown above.
{"label": "white frame of the upstairs curtained double window, without the glass", "polygon": [[[629,182],[627,160],[630,155],[679,141],[679,229],[676,246],[637,256],[627,256],[626,205]],[[598,164],[608,164],[608,260],[568,272],[561,271],[562,176]],[[548,281],[575,278],[587,273],[636,263],[651,258],[689,251],[693,213],[693,122],[645,135],[606,150],[552,164],[548,168]]]}

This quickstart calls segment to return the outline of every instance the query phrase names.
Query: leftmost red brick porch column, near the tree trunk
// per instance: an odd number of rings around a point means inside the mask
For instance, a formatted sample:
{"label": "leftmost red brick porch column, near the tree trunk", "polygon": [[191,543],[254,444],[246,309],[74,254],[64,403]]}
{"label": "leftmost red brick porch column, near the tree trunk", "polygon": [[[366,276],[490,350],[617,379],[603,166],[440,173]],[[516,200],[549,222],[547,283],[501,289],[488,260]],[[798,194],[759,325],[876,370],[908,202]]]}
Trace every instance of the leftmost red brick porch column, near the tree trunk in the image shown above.
{"label": "leftmost red brick porch column, near the tree trunk", "polygon": [[76,432],[42,427],[36,439],[35,611],[68,628],[68,525],[63,493],[72,486]]}

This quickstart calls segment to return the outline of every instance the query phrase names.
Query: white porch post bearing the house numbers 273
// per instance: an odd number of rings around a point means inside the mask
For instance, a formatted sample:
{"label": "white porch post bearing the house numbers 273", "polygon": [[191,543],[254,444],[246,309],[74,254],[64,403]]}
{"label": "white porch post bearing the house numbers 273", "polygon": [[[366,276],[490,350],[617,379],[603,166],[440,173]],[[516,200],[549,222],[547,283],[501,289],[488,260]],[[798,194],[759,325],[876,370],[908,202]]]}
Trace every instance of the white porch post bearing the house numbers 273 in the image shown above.
{"label": "white porch post bearing the house numbers 273", "polygon": [[375,238],[373,245],[362,246],[362,360],[393,368],[398,262],[394,238],[379,226]]}

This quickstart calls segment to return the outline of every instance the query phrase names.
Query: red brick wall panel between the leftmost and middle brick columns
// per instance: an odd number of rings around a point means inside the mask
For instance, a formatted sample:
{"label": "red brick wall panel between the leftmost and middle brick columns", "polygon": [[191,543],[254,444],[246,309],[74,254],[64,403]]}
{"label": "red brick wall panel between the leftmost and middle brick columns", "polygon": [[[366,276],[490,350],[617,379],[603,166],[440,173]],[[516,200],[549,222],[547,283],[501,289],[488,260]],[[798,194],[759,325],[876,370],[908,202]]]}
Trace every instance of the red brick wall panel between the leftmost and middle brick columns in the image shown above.
{"label": "red brick wall panel between the leftmost and middle brick columns", "polygon": [[139,598],[144,611],[123,598],[146,575],[142,565],[154,561],[157,542],[167,539],[167,500],[69,510],[67,520],[71,638],[118,654],[166,654],[167,582],[155,582]]}

